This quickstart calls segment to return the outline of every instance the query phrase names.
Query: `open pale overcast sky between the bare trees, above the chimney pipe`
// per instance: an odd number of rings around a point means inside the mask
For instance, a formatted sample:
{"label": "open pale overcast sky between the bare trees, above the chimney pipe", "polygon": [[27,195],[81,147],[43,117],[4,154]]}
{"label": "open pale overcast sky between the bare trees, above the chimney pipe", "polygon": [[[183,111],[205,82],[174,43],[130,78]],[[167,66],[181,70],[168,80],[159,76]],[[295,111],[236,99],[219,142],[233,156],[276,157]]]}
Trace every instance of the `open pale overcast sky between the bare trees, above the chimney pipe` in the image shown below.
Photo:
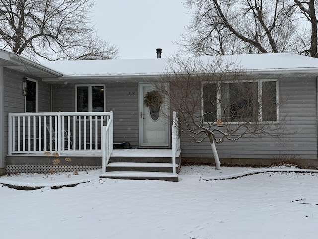
{"label": "open pale overcast sky between the bare trees, above the chimney pipe", "polygon": [[175,54],[189,14],[182,0],[96,0],[95,28],[119,47],[121,59],[156,58]]}

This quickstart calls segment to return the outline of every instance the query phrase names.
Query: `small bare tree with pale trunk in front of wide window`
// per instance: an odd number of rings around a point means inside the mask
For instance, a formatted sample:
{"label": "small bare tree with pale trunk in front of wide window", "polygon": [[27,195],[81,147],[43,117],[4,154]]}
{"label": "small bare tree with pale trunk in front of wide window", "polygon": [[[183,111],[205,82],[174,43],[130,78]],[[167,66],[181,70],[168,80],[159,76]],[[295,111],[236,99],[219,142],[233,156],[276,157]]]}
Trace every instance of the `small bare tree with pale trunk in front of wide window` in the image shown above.
{"label": "small bare tree with pale trunk in front of wide window", "polygon": [[170,60],[166,73],[155,83],[178,113],[181,132],[192,142],[209,140],[216,168],[220,161],[216,144],[243,137],[286,136],[284,119],[278,123],[281,104],[276,81],[254,80],[226,58]]}

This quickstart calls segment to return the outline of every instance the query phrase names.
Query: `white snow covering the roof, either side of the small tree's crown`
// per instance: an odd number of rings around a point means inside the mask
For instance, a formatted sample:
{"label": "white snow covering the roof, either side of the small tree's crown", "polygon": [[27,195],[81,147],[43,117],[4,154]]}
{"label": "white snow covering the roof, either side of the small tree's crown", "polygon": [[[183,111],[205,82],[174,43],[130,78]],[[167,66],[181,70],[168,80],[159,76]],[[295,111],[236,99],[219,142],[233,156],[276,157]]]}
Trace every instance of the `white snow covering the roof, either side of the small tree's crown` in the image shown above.
{"label": "white snow covering the roof, either side of the small tree's crown", "polygon": [[[220,57],[220,56],[218,56]],[[200,57],[203,61],[215,57]],[[256,72],[318,72],[318,59],[289,53],[244,54],[221,56],[227,61],[241,65],[248,71]],[[130,60],[82,60],[48,61],[42,65],[62,72],[65,77],[72,76],[127,76],[157,75],[167,69],[168,58],[130,59]]]}

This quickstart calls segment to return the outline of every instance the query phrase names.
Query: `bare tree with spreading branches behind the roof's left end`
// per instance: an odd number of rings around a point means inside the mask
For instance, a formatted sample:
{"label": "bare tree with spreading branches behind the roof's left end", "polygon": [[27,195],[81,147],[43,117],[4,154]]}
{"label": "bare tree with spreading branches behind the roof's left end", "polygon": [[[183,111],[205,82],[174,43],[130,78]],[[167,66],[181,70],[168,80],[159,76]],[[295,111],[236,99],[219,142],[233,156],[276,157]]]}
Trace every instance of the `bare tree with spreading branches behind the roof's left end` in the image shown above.
{"label": "bare tree with spreading branches behind the roof's left end", "polygon": [[30,58],[112,59],[90,24],[93,0],[0,0],[0,45]]}

